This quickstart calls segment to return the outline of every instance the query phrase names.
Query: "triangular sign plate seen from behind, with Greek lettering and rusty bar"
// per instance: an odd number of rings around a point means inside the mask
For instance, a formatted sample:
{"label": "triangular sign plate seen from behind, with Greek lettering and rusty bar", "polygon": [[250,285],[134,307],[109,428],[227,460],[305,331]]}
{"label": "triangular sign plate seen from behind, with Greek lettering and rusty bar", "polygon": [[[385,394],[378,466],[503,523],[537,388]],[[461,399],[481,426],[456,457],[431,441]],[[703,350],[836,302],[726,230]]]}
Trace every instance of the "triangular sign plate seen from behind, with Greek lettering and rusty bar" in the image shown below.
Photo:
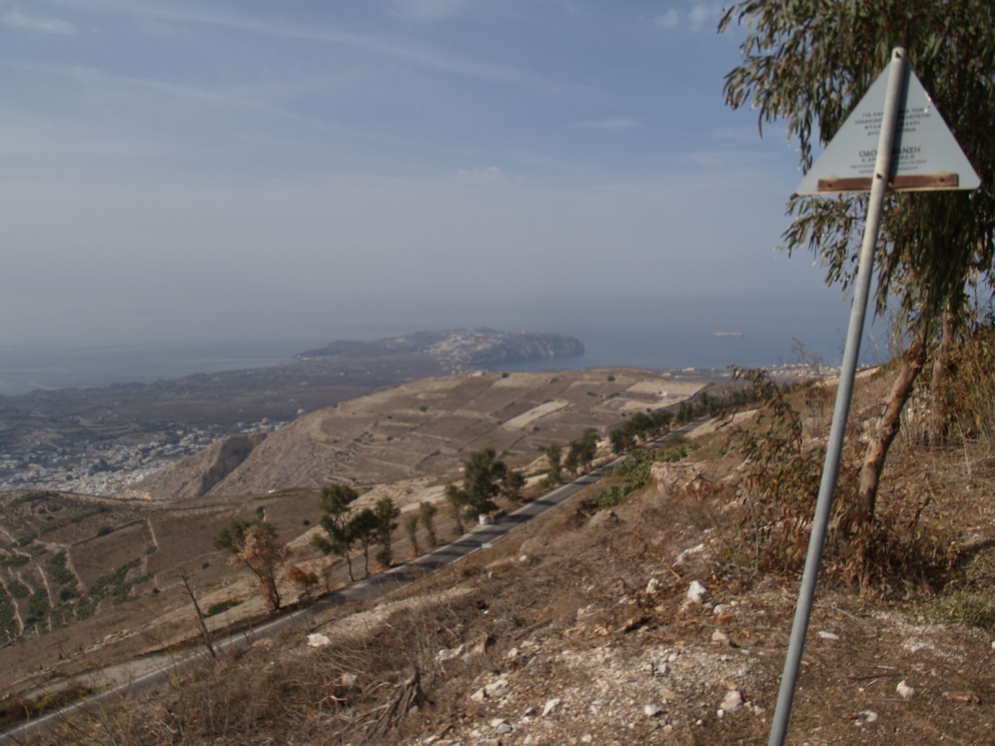
{"label": "triangular sign plate seen from behind, with Greek lettering and rusty bar", "polygon": [[[797,194],[870,192],[888,90],[888,72],[861,98],[816,160]],[[897,191],[977,189],[981,180],[932,98],[907,65],[898,104],[889,188]]]}

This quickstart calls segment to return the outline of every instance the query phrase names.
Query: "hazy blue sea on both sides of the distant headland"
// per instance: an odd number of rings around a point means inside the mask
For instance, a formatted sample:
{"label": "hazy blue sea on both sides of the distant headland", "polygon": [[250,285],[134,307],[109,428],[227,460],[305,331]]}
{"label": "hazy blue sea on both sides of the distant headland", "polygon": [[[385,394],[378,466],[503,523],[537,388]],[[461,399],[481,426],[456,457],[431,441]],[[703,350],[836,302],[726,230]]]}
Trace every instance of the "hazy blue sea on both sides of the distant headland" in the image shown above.
{"label": "hazy blue sea on both sides of the distant headland", "polygon": [[[829,366],[839,365],[846,318],[819,323],[727,322],[721,328],[704,323],[644,323],[632,326],[585,325],[563,328],[580,339],[583,355],[533,360],[501,366],[508,370],[631,366],[652,370],[724,369],[729,365],[768,367],[816,356]],[[566,326],[564,324],[564,326]],[[0,349],[0,395],[32,389],[105,386],[111,383],[150,383],[191,373],[214,373],[290,362],[298,352],[332,339],[378,339],[414,329],[385,329],[356,333],[349,330],[323,339],[261,342],[113,344]],[[741,332],[716,336],[714,332]],[[801,348],[799,347],[801,345]],[[803,349],[802,349],[803,348]],[[887,357],[871,341],[863,344],[862,361]]]}

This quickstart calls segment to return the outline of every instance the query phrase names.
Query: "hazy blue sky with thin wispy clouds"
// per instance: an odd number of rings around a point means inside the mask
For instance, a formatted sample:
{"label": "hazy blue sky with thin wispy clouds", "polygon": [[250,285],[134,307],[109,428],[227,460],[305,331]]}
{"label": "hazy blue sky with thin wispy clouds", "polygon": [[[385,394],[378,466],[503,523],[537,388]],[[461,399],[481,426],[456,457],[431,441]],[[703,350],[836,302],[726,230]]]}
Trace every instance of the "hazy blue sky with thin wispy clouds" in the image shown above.
{"label": "hazy blue sky with thin wispy clouds", "polygon": [[797,154],[723,105],[720,12],[0,0],[0,346],[836,328],[772,251]]}

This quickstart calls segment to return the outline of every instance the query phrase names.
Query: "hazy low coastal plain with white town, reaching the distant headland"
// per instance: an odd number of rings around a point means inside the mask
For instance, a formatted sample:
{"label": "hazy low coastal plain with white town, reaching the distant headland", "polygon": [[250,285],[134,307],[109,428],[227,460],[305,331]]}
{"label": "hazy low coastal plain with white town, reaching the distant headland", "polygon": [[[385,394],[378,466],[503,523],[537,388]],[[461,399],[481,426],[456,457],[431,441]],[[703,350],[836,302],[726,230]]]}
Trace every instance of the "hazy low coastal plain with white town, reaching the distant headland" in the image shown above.
{"label": "hazy low coastal plain with white town, reaching the distant headland", "polygon": [[112,494],[213,440],[426,376],[578,355],[565,334],[449,329],[333,342],[294,361],[149,384],[0,396],[0,489]]}

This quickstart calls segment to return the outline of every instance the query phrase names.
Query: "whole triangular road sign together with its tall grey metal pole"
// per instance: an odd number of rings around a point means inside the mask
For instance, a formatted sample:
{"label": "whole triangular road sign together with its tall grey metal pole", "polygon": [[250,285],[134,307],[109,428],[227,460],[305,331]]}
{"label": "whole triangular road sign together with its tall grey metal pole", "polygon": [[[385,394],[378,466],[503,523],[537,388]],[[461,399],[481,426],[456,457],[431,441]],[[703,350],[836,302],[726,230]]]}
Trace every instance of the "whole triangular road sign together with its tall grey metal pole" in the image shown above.
{"label": "whole triangular road sign together with its tall grey metal pole", "polygon": [[[878,135],[877,147],[873,146],[873,140],[869,141],[875,134]],[[979,185],[978,175],[936,111],[929,94],[905,63],[905,50],[896,47],[891,64],[847,117],[798,187],[798,194],[870,191],[871,198],[826,464],[768,746],[783,746],[791,716],[850,414],[885,193],[888,189],[977,189]]]}

